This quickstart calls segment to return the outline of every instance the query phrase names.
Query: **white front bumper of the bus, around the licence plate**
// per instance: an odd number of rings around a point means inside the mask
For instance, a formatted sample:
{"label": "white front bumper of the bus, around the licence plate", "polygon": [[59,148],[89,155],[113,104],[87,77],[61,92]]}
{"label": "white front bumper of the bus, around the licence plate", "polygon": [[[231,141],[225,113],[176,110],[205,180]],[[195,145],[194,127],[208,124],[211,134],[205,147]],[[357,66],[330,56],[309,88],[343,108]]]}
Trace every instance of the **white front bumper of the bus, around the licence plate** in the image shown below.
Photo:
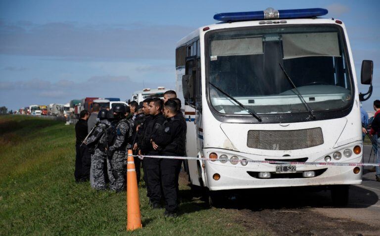
{"label": "white front bumper of the bus, around the licence plate", "polygon": [[[218,149],[203,150],[204,157],[208,157],[211,152],[220,152]],[[223,150],[226,152],[226,150]],[[230,151],[228,151],[230,152]],[[234,155],[231,152],[231,155]],[[241,157],[244,154],[239,153]],[[259,160],[259,158],[247,155],[247,158]],[[261,157],[264,160],[263,157]],[[344,160],[345,162],[362,162],[362,155]],[[310,162],[310,161],[308,161]],[[316,161],[317,162],[317,161]],[[319,161],[318,161],[319,162]],[[322,161],[321,161],[322,162]],[[326,166],[326,165],[296,165],[298,173],[314,170],[322,172],[315,177],[273,177],[260,179],[252,176],[252,172],[276,172],[277,164],[252,163],[241,166],[240,163],[232,165],[230,162],[220,163],[219,161],[204,161],[204,181],[211,191],[232,190],[232,189],[254,189],[273,187],[293,187],[293,186],[320,186],[320,185],[351,185],[362,183],[363,167],[360,172],[354,174],[355,166]],[[214,180],[213,175],[218,173],[219,180]],[[291,176],[291,175],[290,175]],[[298,174],[299,176],[299,174]]]}

